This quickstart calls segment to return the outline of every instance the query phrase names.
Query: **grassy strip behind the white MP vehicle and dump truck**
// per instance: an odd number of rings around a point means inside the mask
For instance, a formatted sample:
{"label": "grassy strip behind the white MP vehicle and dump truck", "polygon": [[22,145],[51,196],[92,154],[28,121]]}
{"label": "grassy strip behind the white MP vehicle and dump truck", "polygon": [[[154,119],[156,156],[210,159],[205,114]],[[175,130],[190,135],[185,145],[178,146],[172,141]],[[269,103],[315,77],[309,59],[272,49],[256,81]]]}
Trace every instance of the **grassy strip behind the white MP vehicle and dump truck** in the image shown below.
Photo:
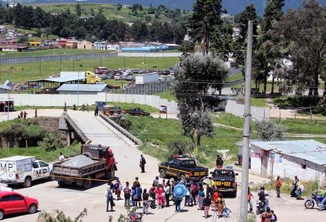
{"label": "grassy strip behind the white MP vehicle and dump truck", "polygon": [[80,154],[81,145],[76,144],[72,146],[66,146],[58,150],[46,152],[44,149],[39,147],[30,147],[30,148],[1,148],[0,149],[0,158],[12,157],[12,156],[34,156],[36,159],[52,162],[57,161],[59,158],[60,152],[63,153],[65,158],[74,157]]}

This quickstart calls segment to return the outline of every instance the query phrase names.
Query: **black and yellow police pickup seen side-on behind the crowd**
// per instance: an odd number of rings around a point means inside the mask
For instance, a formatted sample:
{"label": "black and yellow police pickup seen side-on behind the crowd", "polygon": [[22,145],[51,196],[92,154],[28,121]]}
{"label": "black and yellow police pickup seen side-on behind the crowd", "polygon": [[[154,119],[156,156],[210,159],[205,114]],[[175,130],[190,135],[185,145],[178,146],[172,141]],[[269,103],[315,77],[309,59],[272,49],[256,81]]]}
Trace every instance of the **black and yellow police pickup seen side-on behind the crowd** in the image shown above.
{"label": "black and yellow police pickup seen side-on behind the crowd", "polygon": [[207,176],[208,169],[198,167],[193,159],[175,158],[164,163],[159,163],[159,174],[161,178],[170,176],[185,181],[192,177],[201,179]]}

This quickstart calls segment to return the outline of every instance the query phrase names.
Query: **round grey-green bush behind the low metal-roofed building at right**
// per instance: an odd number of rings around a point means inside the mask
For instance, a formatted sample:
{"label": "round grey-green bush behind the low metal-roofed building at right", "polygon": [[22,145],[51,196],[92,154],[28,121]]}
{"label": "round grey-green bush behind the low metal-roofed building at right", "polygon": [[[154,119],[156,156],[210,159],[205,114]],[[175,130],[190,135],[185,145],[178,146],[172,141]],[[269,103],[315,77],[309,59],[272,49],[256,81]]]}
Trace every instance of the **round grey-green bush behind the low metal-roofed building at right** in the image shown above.
{"label": "round grey-green bush behind the low metal-roofed building at right", "polygon": [[284,132],[282,128],[273,121],[261,121],[257,123],[258,139],[262,141],[282,141]]}

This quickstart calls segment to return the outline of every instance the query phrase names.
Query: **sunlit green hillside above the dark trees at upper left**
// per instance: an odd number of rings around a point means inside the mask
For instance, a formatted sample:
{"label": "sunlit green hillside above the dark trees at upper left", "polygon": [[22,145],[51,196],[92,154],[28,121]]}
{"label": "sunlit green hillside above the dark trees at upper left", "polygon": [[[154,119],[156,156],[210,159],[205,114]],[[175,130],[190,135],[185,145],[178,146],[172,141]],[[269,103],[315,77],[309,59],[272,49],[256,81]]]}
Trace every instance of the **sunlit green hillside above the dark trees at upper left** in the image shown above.
{"label": "sunlit green hillside above the dark trees at upper left", "polygon": [[[91,8],[94,10],[95,14],[99,12],[99,8],[102,8],[102,13],[108,19],[117,19],[121,21],[136,21],[144,20],[145,16],[149,15],[154,20],[154,14],[147,14],[147,9],[144,8],[142,12],[138,11],[140,15],[136,17],[131,14],[132,10],[129,8],[121,8],[121,10],[116,9],[116,4],[96,4],[96,3],[80,3],[81,4],[81,16],[91,17]],[[77,3],[38,3],[32,4],[32,6],[39,6],[46,12],[61,12],[63,10],[70,10],[71,13],[76,13]],[[159,17],[161,21],[167,21],[167,17],[161,14]]]}

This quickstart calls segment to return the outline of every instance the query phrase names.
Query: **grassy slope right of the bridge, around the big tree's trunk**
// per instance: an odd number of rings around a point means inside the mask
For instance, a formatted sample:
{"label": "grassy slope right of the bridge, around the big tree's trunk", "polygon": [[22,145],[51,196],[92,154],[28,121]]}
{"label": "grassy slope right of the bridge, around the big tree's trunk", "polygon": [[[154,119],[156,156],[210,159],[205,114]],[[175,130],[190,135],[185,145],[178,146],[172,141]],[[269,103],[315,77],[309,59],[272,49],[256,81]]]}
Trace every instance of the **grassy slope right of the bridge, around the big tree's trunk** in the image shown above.
{"label": "grassy slope right of the bridge, around the big tree's trunk", "polygon": [[[130,132],[143,141],[141,150],[160,160],[171,157],[170,145],[174,142],[190,145],[190,138],[181,134],[180,122],[176,119],[154,119],[153,117],[132,117]],[[216,127],[214,137],[203,137],[202,145],[198,148],[199,159],[205,165],[214,165],[214,159],[218,150],[230,150],[236,154],[238,149],[234,143],[238,139],[240,132],[226,128]],[[185,148],[185,147],[183,147]]]}

